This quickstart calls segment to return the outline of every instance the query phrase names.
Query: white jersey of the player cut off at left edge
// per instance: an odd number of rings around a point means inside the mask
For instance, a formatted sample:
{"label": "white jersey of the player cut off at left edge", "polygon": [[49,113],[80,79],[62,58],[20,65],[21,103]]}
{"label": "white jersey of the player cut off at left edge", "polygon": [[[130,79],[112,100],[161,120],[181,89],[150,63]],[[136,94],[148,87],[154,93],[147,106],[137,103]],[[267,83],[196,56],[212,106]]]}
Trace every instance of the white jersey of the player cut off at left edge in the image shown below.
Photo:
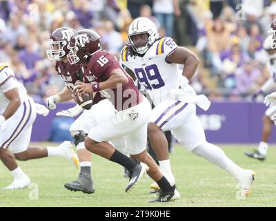
{"label": "white jersey of the player cut off at left edge", "polygon": [[19,84],[13,71],[6,64],[0,63],[0,114],[6,110],[10,103],[4,93],[13,88],[18,88],[21,102],[23,102],[27,97],[26,88]]}

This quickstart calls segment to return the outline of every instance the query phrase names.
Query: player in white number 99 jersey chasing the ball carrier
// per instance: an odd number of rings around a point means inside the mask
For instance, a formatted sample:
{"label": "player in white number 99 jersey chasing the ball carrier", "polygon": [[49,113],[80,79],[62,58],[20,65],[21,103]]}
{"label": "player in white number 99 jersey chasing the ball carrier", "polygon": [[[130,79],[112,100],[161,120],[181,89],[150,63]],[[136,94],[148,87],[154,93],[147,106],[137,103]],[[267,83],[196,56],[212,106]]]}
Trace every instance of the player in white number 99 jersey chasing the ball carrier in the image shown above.
{"label": "player in white number 99 jersey chasing the ball carrier", "polygon": [[[128,30],[130,44],[121,51],[121,64],[135,75],[155,104],[148,123],[148,137],[161,171],[171,184],[175,177],[170,170],[168,143],[162,131],[171,131],[188,151],[228,171],[239,183],[242,194],[249,195],[254,171],[242,169],[219,147],[206,141],[204,128],[196,116],[196,104],[207,110],[210,102],[197,96],[188,84],[199,64],[190,50],[179,47],[170,37],[159,37],[155,23],[140,17]],[[178,64],[184,64],[179,73]],[[153,188],[158,186],[153,185]]]}

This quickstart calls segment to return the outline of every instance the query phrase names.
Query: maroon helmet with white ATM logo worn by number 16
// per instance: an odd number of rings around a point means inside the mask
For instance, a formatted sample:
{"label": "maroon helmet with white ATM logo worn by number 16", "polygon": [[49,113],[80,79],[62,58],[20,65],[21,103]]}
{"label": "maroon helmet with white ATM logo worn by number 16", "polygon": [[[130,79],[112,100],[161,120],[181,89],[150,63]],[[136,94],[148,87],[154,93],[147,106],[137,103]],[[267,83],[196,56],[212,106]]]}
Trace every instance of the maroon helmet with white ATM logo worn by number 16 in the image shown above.
{"label": "maroon helmet with white ATM logo worn by number 16", "polygon": [[72,35],[68,48],[70,52],[67,58],[70,64],[81,64],[95,52],[101,50],[101,39],[99,34],[94,30],[79,30]]}

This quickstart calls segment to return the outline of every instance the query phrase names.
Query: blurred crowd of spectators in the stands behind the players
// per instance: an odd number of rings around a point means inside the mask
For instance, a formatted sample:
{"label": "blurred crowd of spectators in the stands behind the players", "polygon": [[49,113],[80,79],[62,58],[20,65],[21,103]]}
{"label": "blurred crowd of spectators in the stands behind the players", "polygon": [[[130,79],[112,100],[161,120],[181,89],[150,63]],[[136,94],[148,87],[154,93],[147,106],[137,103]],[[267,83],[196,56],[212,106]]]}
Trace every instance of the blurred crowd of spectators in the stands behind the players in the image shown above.
{"label": "blurred crowd of spectators in the stands behind the players", "polygon": [[92,28],[119,57],[128,26],[140,16],[200,57],[191,82],[198,93],[245,99],[270,77],[262,44],[276,0],[0,0],[0,62],[42,102],[64,86],[46,57],[55,28]]}

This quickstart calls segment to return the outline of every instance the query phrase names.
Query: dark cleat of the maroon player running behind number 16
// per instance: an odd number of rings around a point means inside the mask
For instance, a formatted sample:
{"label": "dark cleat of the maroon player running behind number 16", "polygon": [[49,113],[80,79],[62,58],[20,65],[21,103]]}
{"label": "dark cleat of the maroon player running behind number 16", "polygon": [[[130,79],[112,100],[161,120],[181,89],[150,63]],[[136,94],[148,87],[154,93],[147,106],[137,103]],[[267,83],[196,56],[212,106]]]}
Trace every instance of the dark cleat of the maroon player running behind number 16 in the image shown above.
{"label": "dark cleat of the maroon player running behind number 16", "polygon": [[81,191],[88,194],[95,193],[92,178],[85,173],[80,173],[77,180],[64,184],[64,187],[70,191]]}

